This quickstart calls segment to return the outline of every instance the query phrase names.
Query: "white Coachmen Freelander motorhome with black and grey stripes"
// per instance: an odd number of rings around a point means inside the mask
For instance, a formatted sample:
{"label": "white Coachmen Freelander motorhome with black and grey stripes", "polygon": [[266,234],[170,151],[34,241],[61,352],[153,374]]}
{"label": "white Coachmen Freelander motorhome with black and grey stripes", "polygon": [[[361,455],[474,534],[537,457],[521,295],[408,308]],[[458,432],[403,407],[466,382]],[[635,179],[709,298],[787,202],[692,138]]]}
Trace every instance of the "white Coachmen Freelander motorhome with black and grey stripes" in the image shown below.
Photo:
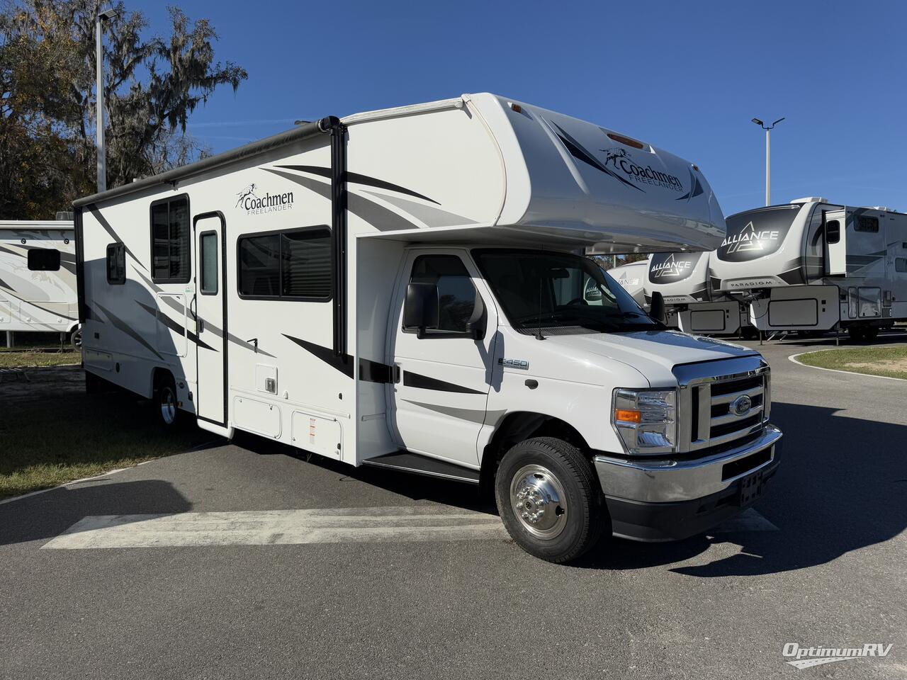
{"label": "white Coachmen Freelander motorhome with black and grey stripes", "polygon": [[777,468],[761,357],[667,331],[579,254],[724,237],[696,166],[648,143],[463,95],[75,208],[87,380],[165,423],[493,484],[513,538],[557,562],[603,531],[703,531]]}

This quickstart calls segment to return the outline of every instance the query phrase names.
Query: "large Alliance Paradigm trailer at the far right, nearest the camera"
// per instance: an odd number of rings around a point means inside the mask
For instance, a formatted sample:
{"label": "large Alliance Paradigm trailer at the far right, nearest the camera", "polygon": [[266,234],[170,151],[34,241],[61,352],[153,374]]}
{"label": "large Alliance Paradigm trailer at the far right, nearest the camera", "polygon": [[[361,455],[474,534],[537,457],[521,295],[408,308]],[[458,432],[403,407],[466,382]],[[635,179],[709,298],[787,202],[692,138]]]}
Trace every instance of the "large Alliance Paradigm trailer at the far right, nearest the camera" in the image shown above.
{"label": "large Alliance Paradigm trailer at the far right, nearest the camera", "polygon": [[737,213],[710,260],[713,286],[760,330],[846,329],[872,339],[907,319],[907,215],[827,199]]}

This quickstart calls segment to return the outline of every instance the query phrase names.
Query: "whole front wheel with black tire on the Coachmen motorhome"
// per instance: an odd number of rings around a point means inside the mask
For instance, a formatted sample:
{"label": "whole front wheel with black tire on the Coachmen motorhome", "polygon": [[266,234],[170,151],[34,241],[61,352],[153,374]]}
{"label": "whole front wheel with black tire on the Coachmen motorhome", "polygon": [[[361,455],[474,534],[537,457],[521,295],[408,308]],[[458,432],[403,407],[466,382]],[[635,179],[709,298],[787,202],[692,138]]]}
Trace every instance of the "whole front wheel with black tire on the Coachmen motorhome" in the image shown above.
{"label": "whole front wheel with black tire on the Coachmen motorhome", "polygon": [[504,454],[494,481],[504,527],[531,555],[569,562],[599,540],[605,510],[594,471],[575,446],[528,439]]}

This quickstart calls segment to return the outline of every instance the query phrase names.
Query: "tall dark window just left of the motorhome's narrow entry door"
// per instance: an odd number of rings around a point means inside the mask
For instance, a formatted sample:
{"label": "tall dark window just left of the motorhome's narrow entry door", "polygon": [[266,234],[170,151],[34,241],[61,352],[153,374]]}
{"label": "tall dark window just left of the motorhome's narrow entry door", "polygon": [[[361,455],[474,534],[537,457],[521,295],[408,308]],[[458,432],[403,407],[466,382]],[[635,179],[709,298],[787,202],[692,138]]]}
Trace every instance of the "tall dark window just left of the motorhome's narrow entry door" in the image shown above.
{"label": "tall dark window just left of the motorhome's narrow entry door", "polygon": [[189,197],[151,203],[151,280],[189,283]]}

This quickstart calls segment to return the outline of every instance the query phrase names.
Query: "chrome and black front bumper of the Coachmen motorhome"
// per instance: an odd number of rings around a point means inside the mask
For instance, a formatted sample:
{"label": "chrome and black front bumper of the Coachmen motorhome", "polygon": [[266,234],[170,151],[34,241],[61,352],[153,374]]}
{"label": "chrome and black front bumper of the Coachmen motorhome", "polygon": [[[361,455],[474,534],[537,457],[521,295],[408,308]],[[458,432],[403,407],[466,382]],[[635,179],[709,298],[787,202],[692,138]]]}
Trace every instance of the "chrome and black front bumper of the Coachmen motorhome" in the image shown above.
{"label": "chrome and black front bumper of the Coachmen motorhome", "polygon": [[761,472],[765,484],[775,474],[780,440],[781,431],[766,425],[755,442],[692,461],[596,456],[614,535],[686,539],[733,517],[755,502],[741,503],[741,483]]}

